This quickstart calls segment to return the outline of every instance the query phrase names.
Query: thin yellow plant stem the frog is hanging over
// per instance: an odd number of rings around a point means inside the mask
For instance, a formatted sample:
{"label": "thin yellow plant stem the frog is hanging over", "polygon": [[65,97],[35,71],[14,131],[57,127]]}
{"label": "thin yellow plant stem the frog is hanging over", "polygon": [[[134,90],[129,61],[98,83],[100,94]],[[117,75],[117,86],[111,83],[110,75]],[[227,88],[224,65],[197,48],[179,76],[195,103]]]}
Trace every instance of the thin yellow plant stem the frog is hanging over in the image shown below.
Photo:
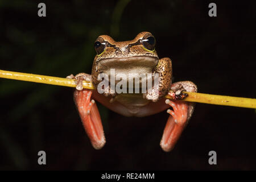
{"label": "thin yellow plant stem the frog is hanging over", "polygon": [[[30,73],[10,72],[10,71],[3,71],[3,70],[0,70],[0,77],[9,78],[13,80],[38,82],[42,84],[76,87],[76,81],[68,78],[34,75]],[[85,89],[95,89],[92,82],[87,82],[87,81],[83,81],[83,87]],[[218,96],[213,94],[193,93],[193,92],[185,92],[185,93],[188,94],[188,97],[184,98],[184,101],[188,101],[188,102],[200,102],[204,104],[247,107],[247,108],[256,109],[255,98]],[[166,96],[166,98],[171,99],[171,97],[169,96]]]}

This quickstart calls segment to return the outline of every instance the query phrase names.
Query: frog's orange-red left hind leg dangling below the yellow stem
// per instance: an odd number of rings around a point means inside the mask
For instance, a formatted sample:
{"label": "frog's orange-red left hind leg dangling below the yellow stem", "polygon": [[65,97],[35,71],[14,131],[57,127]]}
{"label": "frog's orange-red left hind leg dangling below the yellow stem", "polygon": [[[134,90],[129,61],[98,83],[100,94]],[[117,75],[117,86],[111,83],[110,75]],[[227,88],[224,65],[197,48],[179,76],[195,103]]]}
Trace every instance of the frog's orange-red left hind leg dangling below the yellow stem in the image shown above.
{"label": "frog's orange-red left hind leg dangling below the yellow stem", "polygon": [[74,100],[79,111],[84,129],[95,149],[100,149],[106,143],[100,113],[94,100],[90,100],[92,90],[75,90]]}

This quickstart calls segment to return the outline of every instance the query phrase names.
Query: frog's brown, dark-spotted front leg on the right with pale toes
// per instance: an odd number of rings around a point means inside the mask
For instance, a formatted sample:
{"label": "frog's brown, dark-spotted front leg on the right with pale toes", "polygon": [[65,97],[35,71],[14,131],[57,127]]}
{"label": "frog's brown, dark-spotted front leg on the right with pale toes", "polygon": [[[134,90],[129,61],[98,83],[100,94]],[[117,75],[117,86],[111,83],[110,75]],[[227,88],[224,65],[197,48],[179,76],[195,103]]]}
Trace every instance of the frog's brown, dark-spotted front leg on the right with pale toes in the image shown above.
{"label": "frog's brown, dark-spotted front leg on the right with pale toes", "polygon": [[144,94],[147,100],[153,102],[158,101],[163,96],[166,96],[172,83],[172,62],[168,57],[164,57],[158,61],[158,65],[154,68],[153,77],[158,74],[158,88],[153,87],[151,92]]}

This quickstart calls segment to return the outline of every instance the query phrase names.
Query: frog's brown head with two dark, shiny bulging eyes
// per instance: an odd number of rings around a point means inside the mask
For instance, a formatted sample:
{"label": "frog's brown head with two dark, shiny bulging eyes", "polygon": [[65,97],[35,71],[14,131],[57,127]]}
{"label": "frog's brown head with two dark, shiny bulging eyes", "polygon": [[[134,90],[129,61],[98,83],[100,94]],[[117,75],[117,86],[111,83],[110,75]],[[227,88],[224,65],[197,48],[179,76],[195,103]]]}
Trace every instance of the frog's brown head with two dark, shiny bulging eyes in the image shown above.
{"label": "frog's brown head with two dark, shiny bulging eyes", "polygon": [[94,43],[96,68],[108,73],[151,73],[158,64],[155,38],[150,32],[141,32],[133,40],[115,42],[108,35],[100,35]]}

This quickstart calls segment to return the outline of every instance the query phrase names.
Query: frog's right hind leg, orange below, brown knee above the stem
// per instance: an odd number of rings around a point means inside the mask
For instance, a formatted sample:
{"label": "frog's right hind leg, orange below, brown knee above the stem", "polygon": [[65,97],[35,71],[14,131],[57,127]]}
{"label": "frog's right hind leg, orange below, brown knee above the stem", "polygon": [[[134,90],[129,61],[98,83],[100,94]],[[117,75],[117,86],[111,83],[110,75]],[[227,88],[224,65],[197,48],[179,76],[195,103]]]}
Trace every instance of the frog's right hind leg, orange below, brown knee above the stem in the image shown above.
{"label": "frog's right hind leg, orange below, brown knee above the stem", "polygon": [[197,86],[190,81],[184,81],[172,84],[171,89],[172,92],[175,93],[175,101],[166,100],[166,104],[170,105],[173,110],[167,110],[170,117],[168,118],[166,127],[164,128],[163,137],[160,142],[160,146],[166,152],[171,151],[172,148],[174,148],[195,108],[192,102],[178,101],[180,98],[182,99],[182,97],[184,98],[185,96],[181,91],[186,90],[188,92],[197,92]]}

